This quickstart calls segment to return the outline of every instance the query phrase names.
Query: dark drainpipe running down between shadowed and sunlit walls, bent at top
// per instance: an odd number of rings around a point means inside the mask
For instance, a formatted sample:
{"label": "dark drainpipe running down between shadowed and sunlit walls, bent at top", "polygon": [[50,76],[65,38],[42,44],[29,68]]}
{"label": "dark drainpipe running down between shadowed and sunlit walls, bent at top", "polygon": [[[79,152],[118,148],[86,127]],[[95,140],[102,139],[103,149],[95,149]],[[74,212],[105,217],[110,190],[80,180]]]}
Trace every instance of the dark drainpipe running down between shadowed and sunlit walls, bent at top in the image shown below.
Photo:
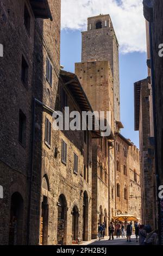
{"label": "dark drainpipe running down between shadowed and sunlit walls, bent at top", "polygon": [[49,112],[54,113],[54,110],[41,101],[33,99],[32,102],[32,139],[31,139],[31,155],[30,155],[30,180],[29,180],[29,201],[28,201],[28,216],[27,216],[27,245],[30,245],[30,212],[31,212],[31,199],[32,199],[32,179],[33,179],[33,163],[34,163],[34,141],[35,141],[35,112],[36,103]]}

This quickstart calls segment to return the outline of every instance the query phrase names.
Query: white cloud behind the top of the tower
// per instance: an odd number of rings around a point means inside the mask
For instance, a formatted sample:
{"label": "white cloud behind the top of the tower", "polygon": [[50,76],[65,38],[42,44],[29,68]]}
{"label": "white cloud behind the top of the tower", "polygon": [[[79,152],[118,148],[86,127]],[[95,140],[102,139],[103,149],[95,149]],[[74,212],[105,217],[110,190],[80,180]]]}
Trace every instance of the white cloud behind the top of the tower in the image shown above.
{"label": "white cloud behind the top of the tower", "polygon": [[87,17],[110,14],[120,51],[145,52],[142,0],[62,0],[61,28],[86,30]]}

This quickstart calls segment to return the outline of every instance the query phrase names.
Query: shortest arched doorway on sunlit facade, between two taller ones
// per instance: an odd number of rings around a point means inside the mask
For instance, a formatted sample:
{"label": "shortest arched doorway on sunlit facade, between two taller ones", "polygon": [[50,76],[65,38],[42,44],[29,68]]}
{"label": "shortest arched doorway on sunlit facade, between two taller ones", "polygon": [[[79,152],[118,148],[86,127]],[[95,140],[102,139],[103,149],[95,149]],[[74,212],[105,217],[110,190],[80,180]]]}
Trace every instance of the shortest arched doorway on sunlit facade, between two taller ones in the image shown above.
{"label": "shortest arched doorway on sunlit facade, between two taller ones", "polygon": [[74,206],[72,210],[72,241],[78,241],[79,210]]}

